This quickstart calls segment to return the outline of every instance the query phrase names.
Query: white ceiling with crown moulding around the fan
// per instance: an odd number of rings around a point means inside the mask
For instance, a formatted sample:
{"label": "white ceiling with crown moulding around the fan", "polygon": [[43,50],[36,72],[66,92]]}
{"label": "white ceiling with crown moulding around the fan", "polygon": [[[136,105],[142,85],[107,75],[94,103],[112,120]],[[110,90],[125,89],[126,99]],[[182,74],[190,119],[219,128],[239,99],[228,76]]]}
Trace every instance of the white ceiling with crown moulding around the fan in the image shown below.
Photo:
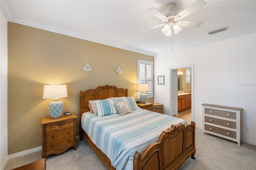
{"label": "white ceiling with crown moulding around the fan", "polygon": [[[162,24],[146,10],[175,3],[179,13],[194,0],[1,0],[7,20],[130,51],[155,55],[235,36],[256,33],[255,0],[205,0],[206,6],[183,20],[204,21],[199,28],[183,27],[172,39],[161,28],[140,32]],[[228,26],[228,30],[207,32]],[[173,45],[171,44],[173,42]]]}

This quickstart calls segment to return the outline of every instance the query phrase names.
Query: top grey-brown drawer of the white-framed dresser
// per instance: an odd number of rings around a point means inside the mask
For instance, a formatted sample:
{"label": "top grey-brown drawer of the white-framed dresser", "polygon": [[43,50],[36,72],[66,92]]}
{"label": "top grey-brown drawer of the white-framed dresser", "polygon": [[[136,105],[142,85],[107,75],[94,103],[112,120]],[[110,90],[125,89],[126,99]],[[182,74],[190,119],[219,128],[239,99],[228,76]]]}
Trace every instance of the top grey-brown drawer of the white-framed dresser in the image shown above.
{"label": "top grey-brown drawer of the white-framed dresser", "polygon": [[237,113],[231,111],[222,111],[217,109],[205,108],[204,114],[237,120]]}

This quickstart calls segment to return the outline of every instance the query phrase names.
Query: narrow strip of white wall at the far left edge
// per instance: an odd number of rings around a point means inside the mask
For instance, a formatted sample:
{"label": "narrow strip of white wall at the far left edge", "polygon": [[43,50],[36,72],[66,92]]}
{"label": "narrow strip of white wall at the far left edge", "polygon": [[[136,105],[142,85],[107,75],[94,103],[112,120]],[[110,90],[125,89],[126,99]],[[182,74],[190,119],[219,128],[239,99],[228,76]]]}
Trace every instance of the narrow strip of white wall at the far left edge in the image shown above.
{"label": "narrow strip of white wall at the far left edge", "polygon": [[7,20],[0,13],[0,168],[8,156],[7,142]]}

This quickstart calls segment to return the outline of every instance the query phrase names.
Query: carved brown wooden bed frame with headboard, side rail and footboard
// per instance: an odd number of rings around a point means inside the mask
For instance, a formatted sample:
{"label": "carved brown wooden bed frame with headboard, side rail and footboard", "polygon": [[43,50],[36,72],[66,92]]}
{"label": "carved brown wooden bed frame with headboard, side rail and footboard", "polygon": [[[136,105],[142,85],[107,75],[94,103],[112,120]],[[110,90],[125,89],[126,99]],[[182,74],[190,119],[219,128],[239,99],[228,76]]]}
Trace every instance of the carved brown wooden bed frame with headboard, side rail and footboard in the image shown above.
{"label": "carved brown wooden bed frame with headboard, side rail and footboard", "polygon": [[[90,111],[89,100],[102,100],[109,97],[128,97],[128,89],[115,86],[99,86],[96,89],[80,91],[80,140],[84,139],[100,157],[102,162],[110,170],[115,170],[110,159],[90,140],[86,132],[81,128],[81,117],[84,112]],[[134,170],[164,170],[179,169],[181,164],[190,156],[195,159],[195,128],[194,122],[191,125],[170,125],[171,127],[159,134],[157,142],[148,145],[144,152],[134,154]]]}

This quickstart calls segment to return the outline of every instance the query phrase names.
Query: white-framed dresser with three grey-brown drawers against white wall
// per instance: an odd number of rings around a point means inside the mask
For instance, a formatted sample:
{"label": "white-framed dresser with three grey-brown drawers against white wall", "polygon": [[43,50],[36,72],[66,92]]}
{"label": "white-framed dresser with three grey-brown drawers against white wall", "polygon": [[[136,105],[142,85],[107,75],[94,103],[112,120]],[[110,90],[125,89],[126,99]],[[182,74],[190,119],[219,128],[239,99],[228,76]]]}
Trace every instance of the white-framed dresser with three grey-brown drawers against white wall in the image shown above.
{"label": "white-framed dresser with three grey-brown drawers against white wall", "polygon": [[240,146],[242,108],[202,104],[203,130],[222,138],[233,140]]}

